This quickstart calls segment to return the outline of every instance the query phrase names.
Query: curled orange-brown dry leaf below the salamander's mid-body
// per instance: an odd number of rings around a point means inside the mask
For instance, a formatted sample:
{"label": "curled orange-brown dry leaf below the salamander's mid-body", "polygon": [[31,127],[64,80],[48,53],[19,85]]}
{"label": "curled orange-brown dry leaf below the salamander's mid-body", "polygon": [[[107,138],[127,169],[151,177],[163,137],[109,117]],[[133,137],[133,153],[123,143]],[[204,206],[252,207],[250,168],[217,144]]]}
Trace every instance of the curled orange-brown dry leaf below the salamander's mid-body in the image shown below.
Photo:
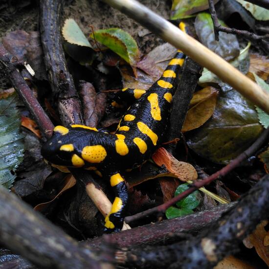
{"label": "curled orange-brown dry leaf below the salamander's mid-body", "polygon": [[152,159],[158,166],[165,165],[169,172],[175,174],[182,181],[198,178],[195,168],[190,163],[177,160],[164,148],[158,148]]}

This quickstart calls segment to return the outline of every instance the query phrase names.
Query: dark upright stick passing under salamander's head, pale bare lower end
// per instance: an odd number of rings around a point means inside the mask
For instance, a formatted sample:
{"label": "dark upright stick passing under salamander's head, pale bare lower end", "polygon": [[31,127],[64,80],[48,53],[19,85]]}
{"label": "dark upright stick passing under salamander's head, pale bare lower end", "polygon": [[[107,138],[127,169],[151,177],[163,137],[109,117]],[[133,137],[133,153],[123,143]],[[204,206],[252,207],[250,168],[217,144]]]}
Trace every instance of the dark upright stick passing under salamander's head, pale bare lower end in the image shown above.
{"label": "dark upright stick passing under salamander's head, pale bare lower end", "polygon": [[[45,55],[45,65],[49,73],[51,89],[59,97],[58,109],[65,125],[83,124],[81,103],[75,89],[71,74],[67,70],[67,63],[61,44],[60,19],[63,0],[40,1],[40,31]],[[82,182],[87,181],[86,191],[98,210],[105,217],[110,212],[112,203],[102,191],[99,184],[80,169],[70,169],[74,177]],[[109,208],[109,210],[108,210]],[[130,228],[124,225],[124,228]]]}

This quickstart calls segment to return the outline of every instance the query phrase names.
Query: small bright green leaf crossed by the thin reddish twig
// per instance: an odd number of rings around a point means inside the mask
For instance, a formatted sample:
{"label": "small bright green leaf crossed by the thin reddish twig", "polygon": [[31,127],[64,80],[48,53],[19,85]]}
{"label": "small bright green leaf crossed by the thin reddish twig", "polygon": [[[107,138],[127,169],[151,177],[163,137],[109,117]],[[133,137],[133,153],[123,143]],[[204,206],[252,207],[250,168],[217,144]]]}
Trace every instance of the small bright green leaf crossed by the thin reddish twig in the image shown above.
{"label": "small bright green leaf crossed by the thin reddish twig", "polygon": [[[175,191],[175,197],[178,196],[180,193],[184,192],[189,188],[189,184],[181,184]],[[199,201],[197,200],[198,191],[195,191],[182,199],[181,201],[177,202],[177,206],[182,210],[189,210],[194,209],[199,205]]]}

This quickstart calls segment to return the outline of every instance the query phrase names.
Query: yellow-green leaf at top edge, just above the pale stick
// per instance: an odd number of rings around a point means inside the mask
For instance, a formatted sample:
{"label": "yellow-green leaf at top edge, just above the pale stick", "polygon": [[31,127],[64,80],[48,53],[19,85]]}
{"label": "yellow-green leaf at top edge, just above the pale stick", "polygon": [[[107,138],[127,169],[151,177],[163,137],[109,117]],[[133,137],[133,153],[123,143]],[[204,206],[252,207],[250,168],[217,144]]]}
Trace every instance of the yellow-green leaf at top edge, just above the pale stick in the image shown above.
{"label": "yellow-green leaf at top edge, just above the pale stick", "polygon": [[[217,3],[218,0],[214,0]],[[199,11],[208,9],[207,0],[173,0],[171,8],[171,20],[192,17],[191,15]]]}

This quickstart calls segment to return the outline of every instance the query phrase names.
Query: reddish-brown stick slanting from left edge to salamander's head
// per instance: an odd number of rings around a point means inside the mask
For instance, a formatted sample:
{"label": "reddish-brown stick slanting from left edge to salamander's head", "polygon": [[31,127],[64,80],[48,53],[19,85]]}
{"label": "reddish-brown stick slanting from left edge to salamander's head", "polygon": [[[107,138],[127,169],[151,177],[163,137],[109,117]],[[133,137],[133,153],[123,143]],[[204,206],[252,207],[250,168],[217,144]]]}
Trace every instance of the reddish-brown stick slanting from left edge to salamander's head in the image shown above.
{"label": "reddish-brown stick slanting from left edge to salamander's head", "polygon": [[53,124],[37,101],[33,91],[29,89],[22,75],[17,70],[17,63],[18,59],[7,52],[3,45],[0,44],[0,67],[10,79],[18,95],[24,101],[34,120],[38,123],[42,133],[48,138],[51,136]]}

